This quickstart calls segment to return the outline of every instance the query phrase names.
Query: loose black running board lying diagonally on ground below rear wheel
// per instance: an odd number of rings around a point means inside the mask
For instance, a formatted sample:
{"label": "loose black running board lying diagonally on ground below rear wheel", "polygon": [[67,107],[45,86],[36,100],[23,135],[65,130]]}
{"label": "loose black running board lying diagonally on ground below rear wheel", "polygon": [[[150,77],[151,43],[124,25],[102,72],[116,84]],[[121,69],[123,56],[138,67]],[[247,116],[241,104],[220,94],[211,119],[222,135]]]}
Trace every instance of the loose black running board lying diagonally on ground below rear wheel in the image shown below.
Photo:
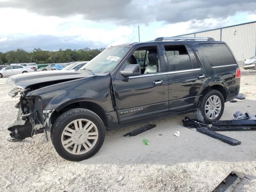
{"label": "loose black running board lying diagonally on ground below rear wheel", "polygon": [[225,142],[227,144],[230,144],[230,145],[239,145],[239,144],[241,144],[241,142],[236,140],[236,139],[233,139],[233,138],[230,138],[228,136],[216,133],[216,132],[214,132],[212,130],[209,130],[207,128],[204,128],[204,127],[196,128],[196,130],[198,132],[202,133],[202,134],[208,135],[212,138],[218,139],[218,140],[220,140],[222,142]]}

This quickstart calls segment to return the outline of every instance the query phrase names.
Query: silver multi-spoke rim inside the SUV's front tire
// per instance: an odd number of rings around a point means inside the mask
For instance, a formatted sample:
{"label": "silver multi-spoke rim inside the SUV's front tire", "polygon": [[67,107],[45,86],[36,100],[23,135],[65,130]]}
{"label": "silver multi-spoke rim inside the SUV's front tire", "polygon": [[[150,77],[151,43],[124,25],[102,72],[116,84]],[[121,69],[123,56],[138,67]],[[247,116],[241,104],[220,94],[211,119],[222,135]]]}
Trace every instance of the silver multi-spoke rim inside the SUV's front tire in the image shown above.
{"label": "silver multi-spoke rim inside the SUV's front tire", "polygon": [[90,151],[98,140],[96,125],[87,119],[70,122],[63,130],[61,143],[64,149],[74,155]]}

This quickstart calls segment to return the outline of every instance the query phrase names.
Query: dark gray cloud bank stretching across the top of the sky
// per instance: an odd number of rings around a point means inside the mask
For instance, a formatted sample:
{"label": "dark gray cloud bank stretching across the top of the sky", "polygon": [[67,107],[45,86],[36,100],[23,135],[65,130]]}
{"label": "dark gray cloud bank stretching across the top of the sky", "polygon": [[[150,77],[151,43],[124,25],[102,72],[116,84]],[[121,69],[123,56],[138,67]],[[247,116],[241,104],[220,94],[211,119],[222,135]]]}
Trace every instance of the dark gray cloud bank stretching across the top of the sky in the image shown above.
{"label": "dark gray cloud bank stretching across the top of the sky", "polygon": [[23,8],[44,16],[68,17],[82,14],[93,21],[129,25],[154,21],[166,23],[224,19],[236,12],[256,12],[255,0],[9,0],[0,7]]}

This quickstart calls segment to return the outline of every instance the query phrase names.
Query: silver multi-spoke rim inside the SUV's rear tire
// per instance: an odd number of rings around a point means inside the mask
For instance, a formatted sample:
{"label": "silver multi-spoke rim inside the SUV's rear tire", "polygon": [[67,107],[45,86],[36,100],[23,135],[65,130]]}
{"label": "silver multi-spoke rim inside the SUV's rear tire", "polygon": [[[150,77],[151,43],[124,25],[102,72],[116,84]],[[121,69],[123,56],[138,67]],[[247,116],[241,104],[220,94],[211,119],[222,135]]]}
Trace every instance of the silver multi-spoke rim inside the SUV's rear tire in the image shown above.
{"label": "silver multi-spoke rim inside the SUV's rear tire", "polygon": [[209,119],[215,119],[221,111],[221,100],[218,96],[212,95],[208,98],[205,104],[205,114]]}

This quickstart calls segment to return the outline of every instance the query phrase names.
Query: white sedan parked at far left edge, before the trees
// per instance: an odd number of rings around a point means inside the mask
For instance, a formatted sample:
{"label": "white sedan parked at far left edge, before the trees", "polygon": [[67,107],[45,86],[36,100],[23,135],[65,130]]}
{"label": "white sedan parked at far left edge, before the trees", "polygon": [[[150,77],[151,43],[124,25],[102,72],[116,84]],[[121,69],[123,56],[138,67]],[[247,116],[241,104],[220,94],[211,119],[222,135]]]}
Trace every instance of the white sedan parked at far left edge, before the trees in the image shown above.
{"label": "white sedan parked at far left edge, before the trees", "polygon": [[0,70],[0,78],[6,77],[6,76],[12,76],[12,75],[16,75],[16,74],[21,74],[21,73],[28,73],[28,72],[35,72],[35,70],[28,68],[26,66],[12,65],[12,66],[2,68]]}

